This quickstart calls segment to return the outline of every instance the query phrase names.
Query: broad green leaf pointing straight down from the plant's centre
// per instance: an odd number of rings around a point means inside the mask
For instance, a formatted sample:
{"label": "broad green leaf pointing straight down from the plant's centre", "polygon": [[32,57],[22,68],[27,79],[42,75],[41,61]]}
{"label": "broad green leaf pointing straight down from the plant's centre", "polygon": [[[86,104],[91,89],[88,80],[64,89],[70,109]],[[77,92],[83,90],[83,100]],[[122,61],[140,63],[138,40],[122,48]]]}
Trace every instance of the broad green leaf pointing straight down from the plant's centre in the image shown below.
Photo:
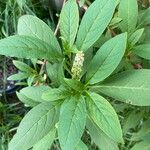
{"label": "broad green leaf pointing straight down from the plant's centre", "polygon": [[58,137],[62,150],[74,150],[86,124],[86,105],[83,97],[71,97],[61,106]]}

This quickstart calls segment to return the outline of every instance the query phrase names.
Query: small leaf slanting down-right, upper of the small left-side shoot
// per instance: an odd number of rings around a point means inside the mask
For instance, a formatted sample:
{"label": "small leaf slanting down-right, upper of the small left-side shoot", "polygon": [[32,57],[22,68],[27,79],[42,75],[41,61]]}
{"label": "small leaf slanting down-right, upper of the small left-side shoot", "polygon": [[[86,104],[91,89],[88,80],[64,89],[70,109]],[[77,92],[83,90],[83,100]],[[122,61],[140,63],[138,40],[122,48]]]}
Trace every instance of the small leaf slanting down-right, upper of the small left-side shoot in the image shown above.
{"label": "small leaf slanting down-right, upper of the small left-side shoot", "polygon": [[34,69],[32,69],[29,65],[25,64],[24,62],[21,61],[13,61],[13,64],[21,71],[26,72],[26,73],[33,73],[36,72]]}

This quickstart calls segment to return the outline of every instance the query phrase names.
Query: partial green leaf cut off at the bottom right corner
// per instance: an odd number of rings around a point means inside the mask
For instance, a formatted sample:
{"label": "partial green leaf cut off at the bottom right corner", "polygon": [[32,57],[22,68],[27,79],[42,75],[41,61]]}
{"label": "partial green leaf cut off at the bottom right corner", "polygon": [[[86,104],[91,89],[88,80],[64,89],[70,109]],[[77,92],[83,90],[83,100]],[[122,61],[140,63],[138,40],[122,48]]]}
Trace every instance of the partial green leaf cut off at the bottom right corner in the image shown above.
{"label": "partial green leaf cut off at the bottom right corner", "polygon": [[139,143],[136,143],[132,148],[131,150],[149,150],[150,149],[150,144],[149,144],[150,141],[142,141],[142,142],[139,142]]}

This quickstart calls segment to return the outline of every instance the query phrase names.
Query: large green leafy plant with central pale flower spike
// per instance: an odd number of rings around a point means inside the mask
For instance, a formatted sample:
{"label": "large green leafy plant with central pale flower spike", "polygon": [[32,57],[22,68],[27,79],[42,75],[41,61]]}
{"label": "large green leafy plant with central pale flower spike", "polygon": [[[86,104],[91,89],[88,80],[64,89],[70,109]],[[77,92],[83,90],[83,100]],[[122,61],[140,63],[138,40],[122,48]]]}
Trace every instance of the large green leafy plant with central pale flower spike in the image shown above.
{"label": "large green leafy plant with central pale flower spike", "polygon": [[115,148],[117,142],[123,142],[118,116],[100,94],[133,105],[150,105],[150,71],[131,70],[108,78],[124,56],[126,33],[111,38],[91,60],[87,59],[116,5],[115,0],[96,0],[78,30],[78,6],[69,0],[60,15],[62,49],[50,28],[29,15],[19,19],[18,35],[0,41],[3,55],[47,60],[51,80],[50,86],[30,86],[17,93],[21,101],[34,108],[21,121],[9,150],[47,148],[57,135],[62,150],[83,149],[85,127],[97,145],[97,138],[107,139]]}

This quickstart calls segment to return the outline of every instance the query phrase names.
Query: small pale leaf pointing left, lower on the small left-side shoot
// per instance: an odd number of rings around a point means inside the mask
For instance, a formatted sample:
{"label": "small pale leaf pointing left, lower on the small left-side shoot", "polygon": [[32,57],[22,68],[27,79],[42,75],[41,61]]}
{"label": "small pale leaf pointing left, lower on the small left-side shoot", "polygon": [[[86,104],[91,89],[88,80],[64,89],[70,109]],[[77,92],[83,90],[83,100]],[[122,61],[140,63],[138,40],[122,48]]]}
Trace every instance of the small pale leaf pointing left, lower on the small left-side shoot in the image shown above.
{"label": "small pale leaf pointing left, lower on the small left-side shoot", "polygon": [[7,80],[16,80],[16,81],[19,81],[19,80],[26,79],[29,76],[30,76],[30,74],[28,74],[28,73],[19,72],[17,74],[11,75],[10,77],[7,78]]}

